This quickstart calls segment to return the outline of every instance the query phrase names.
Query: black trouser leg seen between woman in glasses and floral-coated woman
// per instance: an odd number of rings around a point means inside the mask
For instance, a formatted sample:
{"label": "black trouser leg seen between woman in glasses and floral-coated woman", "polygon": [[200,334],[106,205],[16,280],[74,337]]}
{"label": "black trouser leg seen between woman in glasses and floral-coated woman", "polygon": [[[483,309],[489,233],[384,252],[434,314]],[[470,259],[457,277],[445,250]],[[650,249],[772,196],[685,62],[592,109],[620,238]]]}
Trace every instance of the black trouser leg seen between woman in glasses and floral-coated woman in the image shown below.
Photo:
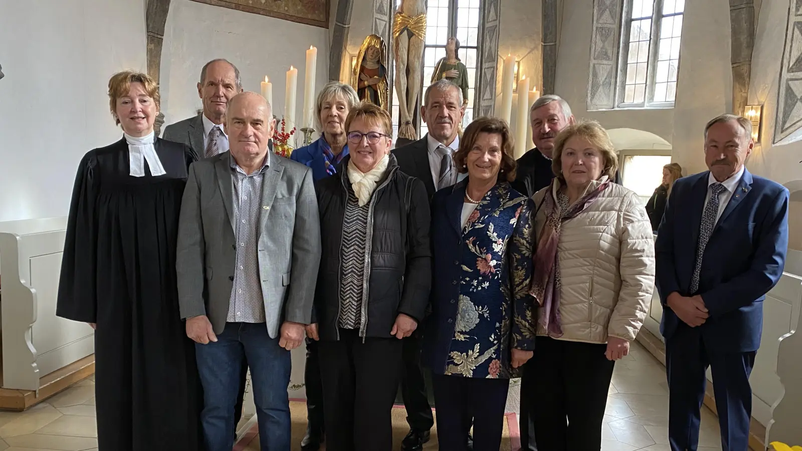
{"label": "black trouser leg seen between woman in glasses and floral-coated woman", "polygon": [[401,396],[407,409],[407,423],[410,429],[426,432],[435,425],[431,415],[426,380],[420,366],[421,339],[418,334],[408,336],[403,342],[403,379]]}

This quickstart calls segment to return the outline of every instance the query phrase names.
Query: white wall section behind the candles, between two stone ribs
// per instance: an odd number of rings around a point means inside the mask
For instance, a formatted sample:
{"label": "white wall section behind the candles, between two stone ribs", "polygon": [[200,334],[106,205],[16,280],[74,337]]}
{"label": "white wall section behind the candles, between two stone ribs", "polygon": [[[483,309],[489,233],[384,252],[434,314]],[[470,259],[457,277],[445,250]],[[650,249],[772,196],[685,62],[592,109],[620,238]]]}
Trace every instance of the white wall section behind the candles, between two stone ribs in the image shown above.
{"label": "white wall section behind the candles, between two stone ribs", "polygon": [[165,124],[194,116],[202,108],[196,84],[203,65],[215,58],[228,59],[237,66],[245,91],[260,92],[260,83],[267,75],[273,83],[273,114],[278,117],[284,114],[286,71],[290,65],[298,68],[295,120],[300,124],[306,50],[310,46],[318,48],[318,89],[328,81],[330,43],[326,28],[172,0],[161,56]]}

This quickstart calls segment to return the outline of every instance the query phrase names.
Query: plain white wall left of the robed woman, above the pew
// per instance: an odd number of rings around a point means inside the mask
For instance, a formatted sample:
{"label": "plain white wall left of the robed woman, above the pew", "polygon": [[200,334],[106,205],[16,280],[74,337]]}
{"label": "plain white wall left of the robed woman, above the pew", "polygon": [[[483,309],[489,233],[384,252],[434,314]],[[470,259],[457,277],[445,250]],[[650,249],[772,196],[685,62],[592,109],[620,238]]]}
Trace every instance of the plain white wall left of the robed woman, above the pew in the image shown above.
{"label": "plain white wall left of the robed woman, above the pew", "polygon": [[107,83],[145,69],[145,1],[2,0],[0,11],[0,221],[63,216],[83,154],[122,136]]}

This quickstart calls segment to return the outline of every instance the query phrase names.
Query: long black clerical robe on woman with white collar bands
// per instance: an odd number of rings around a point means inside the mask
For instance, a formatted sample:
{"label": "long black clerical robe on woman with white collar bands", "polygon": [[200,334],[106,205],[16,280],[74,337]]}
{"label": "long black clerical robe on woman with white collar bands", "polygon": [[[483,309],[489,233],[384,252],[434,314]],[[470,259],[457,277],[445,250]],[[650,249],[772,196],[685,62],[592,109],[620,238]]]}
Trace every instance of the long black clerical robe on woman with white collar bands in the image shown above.
{"label": "long black clerical robe on woman with white collar bands", "polygon": [[96,323],[98,446],[203,449],[195,347],[178,310],[176,238],[195,154],[156,139],[166,174],[129,175],[123,139],[87,152],[75,177],[56,315]]}

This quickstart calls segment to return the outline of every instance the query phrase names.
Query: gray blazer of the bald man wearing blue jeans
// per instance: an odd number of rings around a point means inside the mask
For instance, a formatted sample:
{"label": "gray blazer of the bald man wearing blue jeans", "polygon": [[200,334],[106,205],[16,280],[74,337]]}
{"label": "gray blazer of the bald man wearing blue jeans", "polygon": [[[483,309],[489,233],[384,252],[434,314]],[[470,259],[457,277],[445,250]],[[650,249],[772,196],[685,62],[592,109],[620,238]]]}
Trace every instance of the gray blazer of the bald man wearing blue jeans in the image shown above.
{"label": "gray blazer of the bald man wearing blue jeans", "polygon": [[[229,315],[236,240],[230,153],[199,160],[189,177],[178,224],[181,318],[207,315],[216,334]],[[267,331],[309,324],[320,264],[320,217],[312,171],[270,155],[262,183],[258,258]]]}

